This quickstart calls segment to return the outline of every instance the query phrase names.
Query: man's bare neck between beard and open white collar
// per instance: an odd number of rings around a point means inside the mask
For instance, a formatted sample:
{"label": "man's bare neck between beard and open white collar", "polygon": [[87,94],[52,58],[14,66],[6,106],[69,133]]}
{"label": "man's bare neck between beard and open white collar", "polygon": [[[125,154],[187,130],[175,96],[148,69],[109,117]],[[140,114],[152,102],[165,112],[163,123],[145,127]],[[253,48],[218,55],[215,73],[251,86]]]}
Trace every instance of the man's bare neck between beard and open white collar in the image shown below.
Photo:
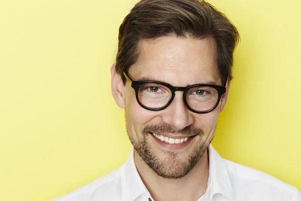
{"label": "man's bare neck between beard and open white collar", "polygon": [[166,179],[157,175],[134,151],[138,173],[155,200],[197,200],[207,189],[209,177],[208,149],[194,168],[180,179]]}

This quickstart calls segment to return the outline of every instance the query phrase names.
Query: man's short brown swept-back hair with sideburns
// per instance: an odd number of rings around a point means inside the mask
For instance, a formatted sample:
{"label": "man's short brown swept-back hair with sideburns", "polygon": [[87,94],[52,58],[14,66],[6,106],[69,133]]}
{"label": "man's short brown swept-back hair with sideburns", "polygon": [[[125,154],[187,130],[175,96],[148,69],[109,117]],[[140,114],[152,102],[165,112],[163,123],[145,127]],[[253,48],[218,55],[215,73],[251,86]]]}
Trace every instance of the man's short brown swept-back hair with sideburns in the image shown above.
{"label": "man's short brown swept-back hair with sideburns", "polygon": [[212,5],[201,0],[141,0],[119,27],[116,72],[125,77],[139,56],[138,42],[162,36],[213,37],[222,80],[232,79],[233,52],[239,41],[236,27]]}

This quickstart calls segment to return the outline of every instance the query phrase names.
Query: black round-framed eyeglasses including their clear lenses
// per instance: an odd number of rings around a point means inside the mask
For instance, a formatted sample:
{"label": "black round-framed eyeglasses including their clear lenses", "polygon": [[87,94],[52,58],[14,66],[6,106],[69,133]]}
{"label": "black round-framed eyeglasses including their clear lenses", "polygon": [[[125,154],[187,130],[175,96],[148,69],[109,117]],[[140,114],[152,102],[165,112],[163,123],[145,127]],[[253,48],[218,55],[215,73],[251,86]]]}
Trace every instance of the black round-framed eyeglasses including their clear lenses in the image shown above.
{"label": "black round-framed eyeglasses including their clear lenses", "polygon": [[150,111],[167,108],[175,97],[175,91],[183,91],[186,107],[194,113],[209,113],[219,104],[226,92],[225,86],[214,84],[194,84],[187,87],[176,87],[159,81],[133,81],[124,71],[123,74],[131,87],[135,89],[138,104]]}

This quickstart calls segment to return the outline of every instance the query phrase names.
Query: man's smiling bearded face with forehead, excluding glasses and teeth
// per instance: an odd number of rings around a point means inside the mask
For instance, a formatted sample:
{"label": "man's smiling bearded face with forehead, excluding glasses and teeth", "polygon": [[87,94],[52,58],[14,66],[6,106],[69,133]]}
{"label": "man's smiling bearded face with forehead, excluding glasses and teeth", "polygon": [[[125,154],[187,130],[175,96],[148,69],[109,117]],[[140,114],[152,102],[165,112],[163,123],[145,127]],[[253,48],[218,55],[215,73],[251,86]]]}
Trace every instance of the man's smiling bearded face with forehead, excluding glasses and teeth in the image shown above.
{"label": "man's smiling bearded face with forehead, excluding glasses and teeth", "polygon": [[[139,42],[139,53],[137,62],[128,71],[134,81],[155,80],[173,86],[209,82],[221,85],[216,45],[212,38],[168,36],[142,40]],[[123,88],[126,129],[135,152],[164,178],[181,178],[199,161],[213,139],[227,96],[226,92],[212,112],[197,114],[185,106],[183,91],[176,91],[175,94],[166,109],[148,111],[138,105],[135,91],[128,82]],[[170,144],[158,139],[154,133],[159,138],[188,140]]]}

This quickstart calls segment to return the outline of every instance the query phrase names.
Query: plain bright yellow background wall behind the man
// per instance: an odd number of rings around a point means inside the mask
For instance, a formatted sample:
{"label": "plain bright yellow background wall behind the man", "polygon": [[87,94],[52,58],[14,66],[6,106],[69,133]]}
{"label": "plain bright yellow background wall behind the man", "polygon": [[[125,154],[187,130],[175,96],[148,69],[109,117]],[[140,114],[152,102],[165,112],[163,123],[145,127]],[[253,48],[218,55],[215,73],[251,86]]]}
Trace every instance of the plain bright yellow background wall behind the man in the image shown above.
{"label": "plain bright yellow background wall behind the man", "polygon": [[[241,34],[213,145],[301,189],[301,1],[209,2]],[[51,200],[125,161],[109,68],[135,3],[1,1],[0,200]]]}

